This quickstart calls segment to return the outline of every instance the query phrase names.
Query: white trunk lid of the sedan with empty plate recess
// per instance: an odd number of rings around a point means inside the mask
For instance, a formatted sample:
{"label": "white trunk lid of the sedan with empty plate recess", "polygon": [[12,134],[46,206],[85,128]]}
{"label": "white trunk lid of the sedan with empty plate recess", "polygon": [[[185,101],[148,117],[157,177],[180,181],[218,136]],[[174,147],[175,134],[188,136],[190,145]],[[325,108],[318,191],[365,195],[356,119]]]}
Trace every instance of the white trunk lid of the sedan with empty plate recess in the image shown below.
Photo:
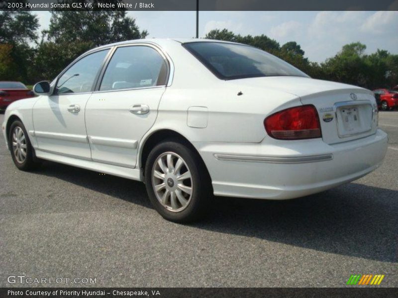
{"label": "white trunk lid of the sedan with empty plate recess", "polygon": [[[361,87],[308,77],[275,76],[234,80],[297,95],[318,111],[322,139],[336,144],[376,133],[378,112],[373,92]],[[281,103],[282,104],[282,103]]]}

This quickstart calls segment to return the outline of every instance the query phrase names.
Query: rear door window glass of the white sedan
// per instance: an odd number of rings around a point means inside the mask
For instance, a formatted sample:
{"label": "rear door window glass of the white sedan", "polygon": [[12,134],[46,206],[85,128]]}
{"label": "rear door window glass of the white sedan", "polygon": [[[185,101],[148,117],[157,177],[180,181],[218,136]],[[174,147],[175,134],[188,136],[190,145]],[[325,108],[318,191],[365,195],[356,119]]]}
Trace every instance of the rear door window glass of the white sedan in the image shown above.
{"label": "rear door window glass of the white sedan", "polygon": [[117,48],[106,68],[100,91],[159,86],[166,84],[167,64],[153,48]]}

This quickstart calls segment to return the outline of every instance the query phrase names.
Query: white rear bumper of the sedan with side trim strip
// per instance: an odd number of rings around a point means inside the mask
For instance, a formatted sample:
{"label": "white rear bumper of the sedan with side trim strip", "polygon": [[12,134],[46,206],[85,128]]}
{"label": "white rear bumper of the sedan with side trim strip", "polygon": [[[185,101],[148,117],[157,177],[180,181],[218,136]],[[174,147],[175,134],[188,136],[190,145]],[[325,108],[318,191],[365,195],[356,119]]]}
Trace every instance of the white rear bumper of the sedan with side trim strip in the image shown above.
{"label": "white rear bumper of the sedan with side trim strip", "polygon": [[[257,199],[298,198],[358,179],[379,167],[387,134],[336,145],[305,140],[275,145],[195,143],[215,195]],[[271,154],[272,152],[272,154]]]}

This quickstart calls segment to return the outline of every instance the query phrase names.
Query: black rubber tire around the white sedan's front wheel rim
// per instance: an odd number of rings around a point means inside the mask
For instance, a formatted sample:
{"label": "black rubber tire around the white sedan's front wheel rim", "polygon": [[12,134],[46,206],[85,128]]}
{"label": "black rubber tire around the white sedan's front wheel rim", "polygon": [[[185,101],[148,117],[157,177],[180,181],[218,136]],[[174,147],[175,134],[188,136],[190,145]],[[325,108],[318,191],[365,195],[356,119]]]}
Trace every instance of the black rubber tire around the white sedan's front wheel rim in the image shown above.
{"label": "black rubber tire around the white sedan's front wheel rim", "polygon": [[[26,145],[26,156],[24,158],[24,160],[22,162],[17,160],[17,156],[15,154],[15,151],[13,149],[13,133],[15,132],[15,130],[17,128],[20,128],[23,132],[24,135],[24,140],[25,140],[25,145]],[[33,152],[33,148],[32,145],[30,143],[29,140],[29,136],[28,133],[26,132],[25,127],[23,126],[22,122],[20,122],[19,120],[15,120],[14,122],[12,122],[10,130],[9,130],[9,134],[8,134],[8,142],[9,142],[9,147],[10,147],[10,151],[11,151],[11,157],[12,160],[14,161],[15,166],[22,170],[22,171],[30,171],[30,170],[34,170],[37,168],[37,166],[40,164],[39,162],[36,162],[34,159],[34,152]]]}

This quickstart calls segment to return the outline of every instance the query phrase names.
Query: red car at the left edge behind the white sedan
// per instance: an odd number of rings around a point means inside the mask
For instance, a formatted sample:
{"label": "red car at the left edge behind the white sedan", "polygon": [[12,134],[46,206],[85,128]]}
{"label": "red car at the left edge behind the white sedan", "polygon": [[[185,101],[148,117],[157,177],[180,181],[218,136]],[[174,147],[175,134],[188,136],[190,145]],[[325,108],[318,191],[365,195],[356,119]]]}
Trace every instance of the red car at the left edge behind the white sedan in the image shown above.
{"label": "red car at the left edge behind the white sedan", "polygon": [[0,81],[0,110],[5,110],[15,100],[33,96],[33,91],[21,82]]}

